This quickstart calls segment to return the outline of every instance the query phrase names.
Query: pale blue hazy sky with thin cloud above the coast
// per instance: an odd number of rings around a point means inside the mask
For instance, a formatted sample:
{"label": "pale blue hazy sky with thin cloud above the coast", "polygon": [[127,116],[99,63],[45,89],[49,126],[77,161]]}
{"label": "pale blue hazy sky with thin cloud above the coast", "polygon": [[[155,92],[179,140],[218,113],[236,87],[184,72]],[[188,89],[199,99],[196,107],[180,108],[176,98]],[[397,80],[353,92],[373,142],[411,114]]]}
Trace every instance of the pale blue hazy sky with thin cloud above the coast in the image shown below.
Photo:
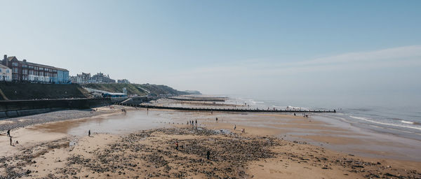
{"label": "pale blue hazy sky with thin cloud above the coast", "polygon": [[2,55],[72,76],[102,72],[286,103],[421,107],[421,1],[0,0],[0,7]]}

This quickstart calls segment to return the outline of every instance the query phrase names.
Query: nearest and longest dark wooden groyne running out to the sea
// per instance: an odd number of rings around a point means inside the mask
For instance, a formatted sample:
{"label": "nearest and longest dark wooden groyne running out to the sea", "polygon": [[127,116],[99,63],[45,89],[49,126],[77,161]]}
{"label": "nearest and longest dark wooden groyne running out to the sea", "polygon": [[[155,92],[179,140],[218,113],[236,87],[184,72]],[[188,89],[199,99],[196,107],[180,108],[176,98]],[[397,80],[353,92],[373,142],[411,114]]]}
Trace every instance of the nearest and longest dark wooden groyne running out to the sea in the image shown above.
{"label": "nearest and longest dark wooden groyne running out to the sea", "polygon": [[169,107],[169,106],[150,106],[142,104],[125,104],[118,103],[122,106],[133,106],[138,108],[151,109],[170,109],[170,110],[189,110],[189,111],[221,111],[221,112],[260,112],[260,113],[336,113],[336,110],[264,110],[264,109],[236,109],[236,108],[183,108],[183,107]]}

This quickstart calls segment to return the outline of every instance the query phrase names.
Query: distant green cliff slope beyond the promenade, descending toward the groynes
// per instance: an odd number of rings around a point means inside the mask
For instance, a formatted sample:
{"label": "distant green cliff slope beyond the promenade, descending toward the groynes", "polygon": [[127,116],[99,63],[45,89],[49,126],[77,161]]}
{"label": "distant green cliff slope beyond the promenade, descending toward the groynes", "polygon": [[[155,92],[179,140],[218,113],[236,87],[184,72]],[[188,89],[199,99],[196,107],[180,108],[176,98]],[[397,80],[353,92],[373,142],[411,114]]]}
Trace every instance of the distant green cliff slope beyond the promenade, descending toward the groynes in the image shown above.
{"label": "distant green cliff slope beyond the promenade, descending toward the groynes", "polygon": [[[148,94],[145,90],[149,91],[152,95],[159,95],[159,94],[187,94],[186,92],[180,92],[178,90],[174,90],[171,87],[166,85],[149,85],[149,84],[121,84],[121,83],[110,83],[110,84],[96,84],[90,83],[83,85],[83,87],[89,87],[96,90],[105,90],[108,92],[123,92],[123,87],[126,87],[128,94],[138,94],[139,96],[143,96]],[[145,89],[145,90],[142,90]]]}

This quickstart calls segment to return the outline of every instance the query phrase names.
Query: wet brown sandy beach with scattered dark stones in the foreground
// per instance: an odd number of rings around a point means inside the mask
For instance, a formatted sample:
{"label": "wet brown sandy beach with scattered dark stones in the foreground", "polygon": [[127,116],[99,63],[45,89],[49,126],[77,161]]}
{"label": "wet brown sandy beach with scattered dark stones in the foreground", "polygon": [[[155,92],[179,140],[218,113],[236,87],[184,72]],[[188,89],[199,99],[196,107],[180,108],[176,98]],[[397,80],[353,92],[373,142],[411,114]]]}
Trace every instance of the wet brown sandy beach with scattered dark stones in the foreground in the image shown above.
{"label": "wet brown sandy beach with scattered dark stones in the foreground", "polygon": [[127,109],[1,135],[1,178],[421,178],[416,141],[316,116]]}

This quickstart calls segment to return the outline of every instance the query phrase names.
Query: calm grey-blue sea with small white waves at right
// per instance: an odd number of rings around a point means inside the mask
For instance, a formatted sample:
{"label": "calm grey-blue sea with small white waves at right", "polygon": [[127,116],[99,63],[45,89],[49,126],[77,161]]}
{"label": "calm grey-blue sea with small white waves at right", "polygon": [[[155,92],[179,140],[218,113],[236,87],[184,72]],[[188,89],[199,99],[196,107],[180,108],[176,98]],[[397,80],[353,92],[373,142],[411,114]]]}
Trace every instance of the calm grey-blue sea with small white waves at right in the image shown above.
{"label": "calm grey-blue sea with small white waves at right", "polygon": [[[421,141],[421,108],[420,106],[388,106],[388,105],[349,105],[335,106],[328,103],[314,103],[303,100],[268,100],[239,95],[227,96],[227,103],[244,104],[250,108],[261,109],[301,109],[301,110],[336,110],[337,113],[316,113],[319,117],[330,120],[340,120],[355,127],[373,130],[381,133],[394,134],[404,138]],[[325,100],[328,101],[328,100]],[[328,107],[326,107],[328,106]]]}

